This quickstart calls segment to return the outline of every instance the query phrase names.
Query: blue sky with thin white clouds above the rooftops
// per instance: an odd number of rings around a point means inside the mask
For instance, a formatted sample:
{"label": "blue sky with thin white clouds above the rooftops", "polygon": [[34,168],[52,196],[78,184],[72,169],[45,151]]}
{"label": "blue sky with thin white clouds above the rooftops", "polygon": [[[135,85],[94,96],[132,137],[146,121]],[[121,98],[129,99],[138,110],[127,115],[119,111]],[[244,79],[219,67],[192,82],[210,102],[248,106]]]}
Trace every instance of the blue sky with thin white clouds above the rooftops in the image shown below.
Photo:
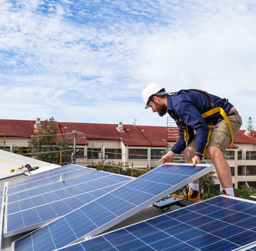
{"label": "blue sky with thin white clouds above the rooftops", "polygon": [[256,127],[255,0],[0,0],[1,119],[166,126],[146,84],[226,97]]}

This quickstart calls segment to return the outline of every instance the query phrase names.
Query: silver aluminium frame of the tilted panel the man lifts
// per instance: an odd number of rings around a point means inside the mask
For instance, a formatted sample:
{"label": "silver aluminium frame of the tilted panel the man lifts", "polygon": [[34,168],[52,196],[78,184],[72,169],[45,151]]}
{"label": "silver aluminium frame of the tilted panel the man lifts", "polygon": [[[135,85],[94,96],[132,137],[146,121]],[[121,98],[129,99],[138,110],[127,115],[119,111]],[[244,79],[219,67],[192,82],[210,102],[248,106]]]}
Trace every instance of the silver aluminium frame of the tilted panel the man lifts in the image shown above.
{"label": "silver aluminium frame of the tilted panel the man lifts", "polygon": [[[164,166],[164,165],[171,165],[171,166],[177,166],[177,165],[179,165],[179,166],[191,166],[191,167],[192,167],[192,164],[187,164],[187,163],[186,163],[186,164],[185,164],[185,163],[181,163],[181,164],[180,164],[180,163],[179,163],[179,164],[177,164],[177,163],[165,163],[165,164],[163,164],[162,166]],[[161,167],[161,166],[160,166],[160,167]],[[160,167],[157,167],[157,168],[160,168]],[[196,167],[205,167],[205,168],[203,168],[202,170],[200,170],[200,171],[197,172],[196,174],[193,174],[192,176],[190,176],[190,177],[188,177],[188,178],[185,178],[183,181],[177,183],[176,185],[170,187],[169,189],[167,189],[167,190],[165,190],[165,191],[162,191],[160,194],[154,196],[153,198],[148,199],[147,201],[141,203],[140,205],[133,207],[133,209],[130,209],[129,211],[126,211],[126,213],[124,213],[124,214],[122,214],[122,215],[120,215],[120,216],[117,216],[116,218],[112,219],[111,221],[109,221],[109,222],[107,222],[107,223],[104,223],[103,225],[101,225],[101,226],[99,226],[98,228],[92,230],[91,232],[85,234],[84,236],[82,236],[82,237],[80,237],[80,238],[77,238],[75,241],[70,242],[68,245],[75,244],[75,243],[77,243],[77,242],[84,241],[84,240],[88,240],[88,239],[90,239],[90,238],[92,238],[92,237],[98,236],[99,234],[103,233],[103,232],[106,231],[107,229],[110,229],[111,227],[117,225],[117,223],[119,223],[119,222],[121,222],[121,221],[123,221],[123,220],[125,220],[125,219],[127,219],[127,218],[129,218],[129,217],[131,217],[132,215],[134,215],[134,214],[138,213],[139,211],[145,209],[146,207],[152,205],[152,204],[155,203],[156,201],[159,201],[160,199],[166,197],[167,195],[169,195],[169,194],[171,194],[171,193],[174,193],[175,191],[181,189],[181,187],[184,187],[184,186],[188,185],[188,183],[193,182],[193,181],[195,181],[196,179],[198,179],[198,178],[202,177],[203,175],[207,174],[208,172],[214,170],[214,166],[213,166],[212,164],[197,164],[197,165],[195,166],[195,168],[196,168]],[[156,169],[157,169],[157,168],[156,168]],[[155,170],[156,170],[156,169],[155,169]],[[145,175],[146,175],[146,174],[145,174]],[[142,175],[141,177],[143,177],[143,175]],[[130,182],[132,182],[132,181],[130,181]],[[129,183],[130,183],[130,182],[129,182]],[[126,185],[128,185],[129,183],[127,183]],[[122,186],[121,186],[121,187],[122,187]],[[117,188],[117,189],[120,189],[120,187]],[[117,189],[115,189],[115,190],[117,190]],[[114,190],[114,191],[115,191],[115,190]],[[113,191],[112,191],[112,192],[113,192]],[[111,193],[112,193],[112,192],[111,192]],[[107,194],[106,194],[106,195],[107,195]],[[105,196],[105,195],[103,195],[103,196]],[[100,197],[100,198],[102,198],[102,197]],[[91,202],[90,202],[90,203],[91,203]],[[90,203],[88,203],[88,204],[90,204]],[[82,206],[82,207],[83,207],[83,206]],[[81,207],[80,207],[80,208],[81,208]],[[76,210],[79,210],[79,209],[76,209]],[[76,211],[76,210],[74,210],[74,211]],[[72,214],[72,213],[73,213],[73,211],[72,211],[71,213],[69,213],[69,214]],[[67,215],[68,215],[68,214],[67,214]],[[43,228],[44,228],[44,227],[43,227]],[[37,231],[37,230],[36,230],[36,231]],[[31,234],[31,233],[29,233],[29,234]],[[22,238],[23,238],[23,237],[22,237]],[[66,245],[66,246],[67,246],[67,245]],[[12,250],[14,250],[14,247],[15,247],[15,241],[13,242]]]}

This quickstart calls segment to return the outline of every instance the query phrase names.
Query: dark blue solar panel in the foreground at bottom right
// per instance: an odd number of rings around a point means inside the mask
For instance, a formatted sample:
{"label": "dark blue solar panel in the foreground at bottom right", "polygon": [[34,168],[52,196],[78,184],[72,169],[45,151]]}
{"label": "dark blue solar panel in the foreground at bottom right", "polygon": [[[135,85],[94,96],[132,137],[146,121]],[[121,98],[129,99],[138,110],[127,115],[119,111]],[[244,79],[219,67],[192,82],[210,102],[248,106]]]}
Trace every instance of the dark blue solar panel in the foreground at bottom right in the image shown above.
{"label": "dark blue solar panel in the foreground at bottom right", "polygon": [[255,223],[255,202],[220,195],[58,250],[245,250]]}

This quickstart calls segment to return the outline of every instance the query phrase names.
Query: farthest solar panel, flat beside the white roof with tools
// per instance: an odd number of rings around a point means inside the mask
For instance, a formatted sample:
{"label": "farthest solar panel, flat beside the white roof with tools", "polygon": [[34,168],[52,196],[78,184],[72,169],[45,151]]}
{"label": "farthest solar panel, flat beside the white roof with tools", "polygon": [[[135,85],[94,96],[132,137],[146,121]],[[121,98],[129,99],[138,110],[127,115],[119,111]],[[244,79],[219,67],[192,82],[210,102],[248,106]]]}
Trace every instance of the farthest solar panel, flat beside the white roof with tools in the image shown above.
{"label": "farthest solar panel, flat beside the white roof with tools", "polygon": [[22,190],[32,189],[33,187],[42,186],[46,183],[59,181],[61,174],[63,175],[64,179],[66,179],[75,175],[95,171],[96,169],[94,168],[78,166],[76,164],[68,164],[67,166],[58,167],[52,170],[9,181],[6,194],[18,193]]}

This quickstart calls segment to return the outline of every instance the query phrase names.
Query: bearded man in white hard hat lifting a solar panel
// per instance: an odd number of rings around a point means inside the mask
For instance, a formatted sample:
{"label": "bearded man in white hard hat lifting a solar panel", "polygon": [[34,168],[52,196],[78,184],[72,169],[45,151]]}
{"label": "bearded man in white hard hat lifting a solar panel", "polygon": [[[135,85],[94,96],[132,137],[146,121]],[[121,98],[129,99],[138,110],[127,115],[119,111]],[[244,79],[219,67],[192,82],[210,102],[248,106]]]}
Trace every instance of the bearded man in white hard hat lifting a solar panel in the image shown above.
{"label": "bearded man in white hard hat lifting a solar panel", "polygon": [[[184,152],[185,162],[195,166],[201,163],[204,154],[214,164],[223,193],[234,197],[231,171],[223,152],[229,145],[231,148],[233,138],[242,125],[235,107],[227,99],[197,89],[167,93],[157,83],[146,85],[142,99],[145,109],[152,108],[160,116],[167,112],[179,127],[179,140],[159,161],[162,164],[172,163],[176,154]],[[199,202],[199,179],[189,183],[188,194],[172,196]]]}

